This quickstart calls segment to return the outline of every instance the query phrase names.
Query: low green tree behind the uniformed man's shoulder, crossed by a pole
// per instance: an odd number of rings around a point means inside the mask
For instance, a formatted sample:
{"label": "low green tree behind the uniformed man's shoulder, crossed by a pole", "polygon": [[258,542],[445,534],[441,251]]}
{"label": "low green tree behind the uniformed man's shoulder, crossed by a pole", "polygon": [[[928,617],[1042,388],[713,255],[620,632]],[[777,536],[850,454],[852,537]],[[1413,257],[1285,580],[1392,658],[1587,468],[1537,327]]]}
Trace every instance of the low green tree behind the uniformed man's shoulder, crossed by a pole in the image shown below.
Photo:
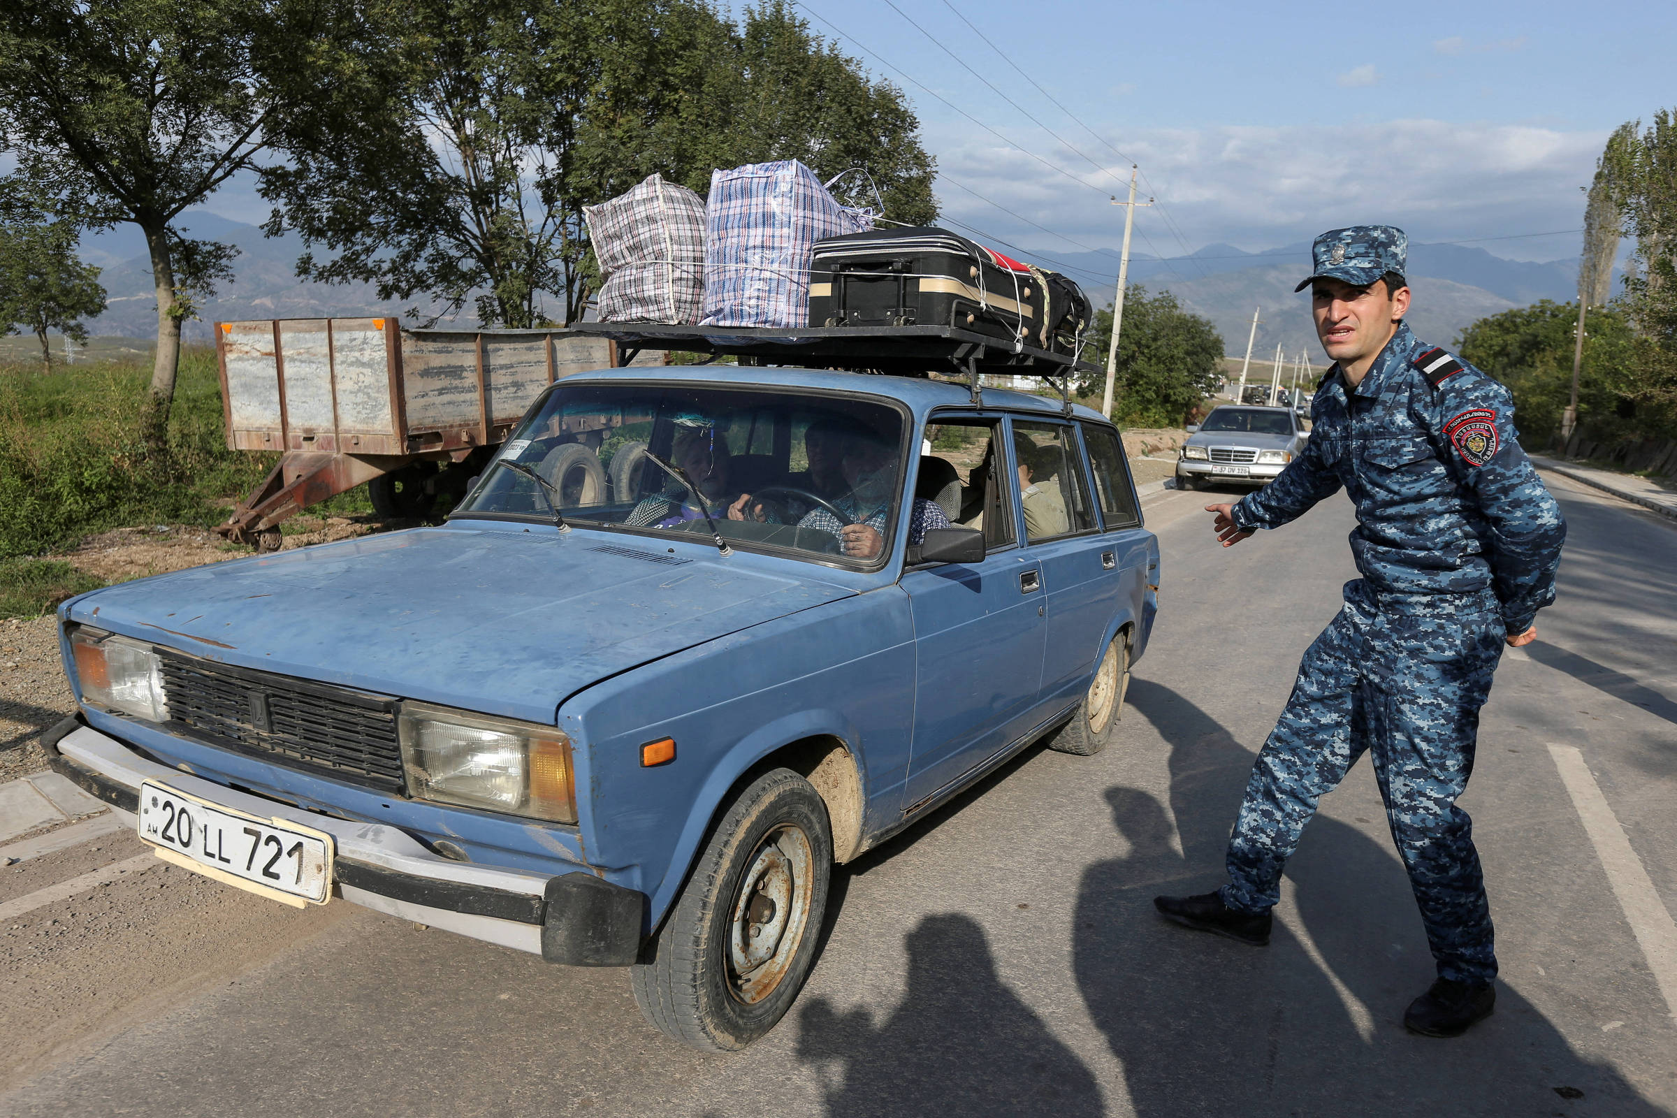
{"label": "low green tree behind the uniformed man's shoulder, crossed by a pole", "polygon": [[[1571,397],[1573,339],[1578,303],[1543,300],[1481,318],[1462,330],[1461,355],[1508,386],[1526,446],[1545,446],[1561,427]],[[1591,310],[1578,379],[1578,417],[1593,437],[1623,424],[1622,402],[1632,387],[1632,334],[1618,310]]]}

